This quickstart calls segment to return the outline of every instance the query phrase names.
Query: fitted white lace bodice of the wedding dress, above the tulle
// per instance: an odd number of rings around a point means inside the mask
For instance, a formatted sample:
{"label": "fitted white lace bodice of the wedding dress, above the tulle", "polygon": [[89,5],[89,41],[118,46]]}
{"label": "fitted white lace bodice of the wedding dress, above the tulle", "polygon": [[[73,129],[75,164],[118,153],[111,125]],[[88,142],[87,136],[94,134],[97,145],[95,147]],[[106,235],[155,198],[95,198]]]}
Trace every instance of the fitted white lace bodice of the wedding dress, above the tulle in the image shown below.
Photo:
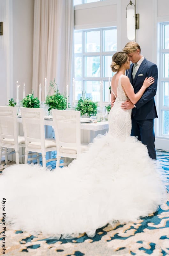
{"label": "fitted white lace bodice of the wedding dress, above the tulle", "polygon": [[[128,99],[123,88],[121,86],[121,77],[119,78],[117,86],[117,97],[113,108],[111,108],[108,122],[109,122],[109,134],[114,137],[118,137],[121,140],[125,140],[131,134],[131,109],[123,110],[121,103]],[[132,86],[132,85],[131,85]],[[113,91],[112,91],[113,92]],[[114,92],[113,92],[114,93]]]}

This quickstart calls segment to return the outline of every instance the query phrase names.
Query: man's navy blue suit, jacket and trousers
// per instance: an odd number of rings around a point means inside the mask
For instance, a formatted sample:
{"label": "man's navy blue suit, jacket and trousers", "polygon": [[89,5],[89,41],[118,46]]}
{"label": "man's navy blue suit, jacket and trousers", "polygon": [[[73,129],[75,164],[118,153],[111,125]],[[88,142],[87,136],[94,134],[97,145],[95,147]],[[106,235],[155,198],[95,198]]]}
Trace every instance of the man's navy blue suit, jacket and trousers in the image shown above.
{"label": "man's navy blue suit, jacket and trousers", "polygon": [[137,70],[135,79],[133,79],[132,72],[133,63],[130,65],[128,76],[135,93],[140,90],[146,77],[154,77],[154,83],[146,89],[141,99],[137,101],[136,108],[132,109],[131,136],[137,136],[138,140],[147,145],[149,156],[156,159],[154,118],[158,115],[154,96],[157,91],[158,68],[156,64],[144,58]]}

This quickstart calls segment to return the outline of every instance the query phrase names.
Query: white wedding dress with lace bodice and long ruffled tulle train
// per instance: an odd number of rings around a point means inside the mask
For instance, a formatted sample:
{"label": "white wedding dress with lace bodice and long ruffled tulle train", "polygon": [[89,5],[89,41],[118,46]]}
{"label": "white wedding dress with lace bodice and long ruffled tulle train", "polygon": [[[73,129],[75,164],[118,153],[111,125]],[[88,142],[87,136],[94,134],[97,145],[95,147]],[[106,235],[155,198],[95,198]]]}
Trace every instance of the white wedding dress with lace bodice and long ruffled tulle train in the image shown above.
{"label": "white wedding dress with lace bodice and long ruffled tulle train", "polygon": [[121,109],[126,99],[120,77],[109,132],[68,167],[19,164],[3,171],[1,198],[12,228],[57,238],[94,236],[107,223],[136,221],[158,209],[165,179],[146,146],[130,137],[131,110]]}

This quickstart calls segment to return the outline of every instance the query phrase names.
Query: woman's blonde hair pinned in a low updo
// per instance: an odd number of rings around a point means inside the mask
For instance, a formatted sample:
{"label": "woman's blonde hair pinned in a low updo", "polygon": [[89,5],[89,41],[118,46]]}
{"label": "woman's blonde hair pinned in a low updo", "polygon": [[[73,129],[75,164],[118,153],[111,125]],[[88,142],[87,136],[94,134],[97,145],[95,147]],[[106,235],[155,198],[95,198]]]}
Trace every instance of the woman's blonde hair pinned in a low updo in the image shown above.
{"label": "woman's blonde hair pinned in a low updo", "polygon": [[117,72],[122,64],[128,59],[128,55],[125,52],[116,52],[112,57],[112,63],[110,68],[113,72]]}

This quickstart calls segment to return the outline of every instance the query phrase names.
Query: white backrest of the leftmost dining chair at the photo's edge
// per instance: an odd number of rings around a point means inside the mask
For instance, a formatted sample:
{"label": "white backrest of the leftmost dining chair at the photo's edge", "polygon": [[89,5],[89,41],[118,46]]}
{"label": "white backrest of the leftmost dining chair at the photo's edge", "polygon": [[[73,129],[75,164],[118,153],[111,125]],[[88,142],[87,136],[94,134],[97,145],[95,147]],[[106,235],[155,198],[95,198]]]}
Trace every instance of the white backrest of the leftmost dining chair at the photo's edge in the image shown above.
{"label": "white backrest of the leftmost dining chair at the photo's edge", "polygon": [[18,148],[17,107],[0,106],[0,143],[4,139],[14,139]]}

